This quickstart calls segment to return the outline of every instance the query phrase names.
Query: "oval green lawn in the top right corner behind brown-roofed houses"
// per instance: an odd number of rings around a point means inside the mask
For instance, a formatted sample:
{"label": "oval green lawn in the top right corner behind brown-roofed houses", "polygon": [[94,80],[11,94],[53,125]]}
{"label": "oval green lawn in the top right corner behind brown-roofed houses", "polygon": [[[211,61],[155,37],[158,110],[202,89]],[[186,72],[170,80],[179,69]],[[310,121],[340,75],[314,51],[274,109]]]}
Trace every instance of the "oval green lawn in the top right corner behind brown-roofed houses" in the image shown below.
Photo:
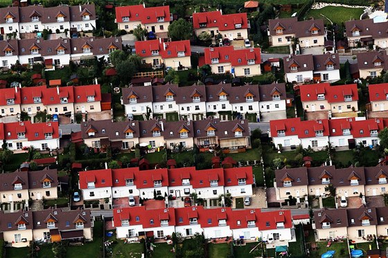
{"label": "oval green lawn in the top right corner behind brown-roofed houses", "polygon": [[[362,8],[346,8],[338,6],[326,6],[321,9],[310,9],[305,15],[306,18],[313,17],[314,19],[324,19],[325,24],[330,24],[330,19],[335,24],[342,24],[344,21],[350,19],[360,19],[362,15]],[[328,19],[323,17],[326,16]]]}

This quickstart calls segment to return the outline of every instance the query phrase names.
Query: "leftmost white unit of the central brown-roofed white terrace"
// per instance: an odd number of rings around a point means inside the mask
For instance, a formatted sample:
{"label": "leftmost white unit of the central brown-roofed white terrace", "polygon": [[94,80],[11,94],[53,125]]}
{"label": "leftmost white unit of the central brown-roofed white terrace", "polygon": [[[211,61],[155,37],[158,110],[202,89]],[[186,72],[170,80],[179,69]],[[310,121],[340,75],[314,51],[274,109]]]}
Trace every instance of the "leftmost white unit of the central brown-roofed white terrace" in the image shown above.
{"label": "leftmost white unit of the central brown-roofed white terrace", "polygon": [[123,88],[123,101],[125,114],[128,116],[141,116],[152,111],[152,86]]}

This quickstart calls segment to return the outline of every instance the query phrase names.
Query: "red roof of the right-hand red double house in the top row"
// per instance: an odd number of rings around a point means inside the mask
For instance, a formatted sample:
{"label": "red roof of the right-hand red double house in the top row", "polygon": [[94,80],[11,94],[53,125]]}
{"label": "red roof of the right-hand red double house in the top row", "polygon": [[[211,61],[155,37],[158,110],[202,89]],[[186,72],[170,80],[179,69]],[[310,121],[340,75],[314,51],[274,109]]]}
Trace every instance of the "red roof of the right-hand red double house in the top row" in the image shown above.
{"label": "red roof of the right-hand red double house in the top row", "polygon": [[[195,12],[193,13],[193,28],[202,28],[200,24],[205,24],[206,28],[215,28],[218,30],[236,30],[247,29],[247,13],[234,13],[232,15],[222,15],[220,11],[213,12]],[[236,28],[236,24],[241,24],[241,28]]]}

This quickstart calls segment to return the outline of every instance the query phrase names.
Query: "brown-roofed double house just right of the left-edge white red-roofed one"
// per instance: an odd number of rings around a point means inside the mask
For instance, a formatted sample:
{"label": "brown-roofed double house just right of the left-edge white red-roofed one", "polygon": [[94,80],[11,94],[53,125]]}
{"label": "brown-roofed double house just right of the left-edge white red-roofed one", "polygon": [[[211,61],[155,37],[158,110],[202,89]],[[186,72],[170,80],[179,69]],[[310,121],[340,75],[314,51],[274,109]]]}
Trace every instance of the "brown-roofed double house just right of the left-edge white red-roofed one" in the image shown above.
{"label": "brown-roofed double house just right of the left-edge white red-roofed one", "polygon": [[131,149],[139,143],[139,121],[89,120],[82,125],[82,138],[92,148],[101,148],[102,151],[106,151],[108,146],[114,149]]}

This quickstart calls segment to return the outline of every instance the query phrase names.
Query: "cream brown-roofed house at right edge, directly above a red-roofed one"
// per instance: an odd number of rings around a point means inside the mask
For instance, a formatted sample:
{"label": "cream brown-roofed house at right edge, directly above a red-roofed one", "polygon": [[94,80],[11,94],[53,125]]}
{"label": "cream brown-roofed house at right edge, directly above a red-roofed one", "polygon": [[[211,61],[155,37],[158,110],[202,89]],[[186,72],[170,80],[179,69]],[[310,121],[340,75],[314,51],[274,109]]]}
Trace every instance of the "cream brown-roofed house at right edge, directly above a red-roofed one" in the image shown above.
{"label": "cream brown-roofed house at right edge, directly above a red-roofed one", "polygon": [[378,77],[388,70],[388,57],[385,51],[371,51],[357,54],[360,78]]}

